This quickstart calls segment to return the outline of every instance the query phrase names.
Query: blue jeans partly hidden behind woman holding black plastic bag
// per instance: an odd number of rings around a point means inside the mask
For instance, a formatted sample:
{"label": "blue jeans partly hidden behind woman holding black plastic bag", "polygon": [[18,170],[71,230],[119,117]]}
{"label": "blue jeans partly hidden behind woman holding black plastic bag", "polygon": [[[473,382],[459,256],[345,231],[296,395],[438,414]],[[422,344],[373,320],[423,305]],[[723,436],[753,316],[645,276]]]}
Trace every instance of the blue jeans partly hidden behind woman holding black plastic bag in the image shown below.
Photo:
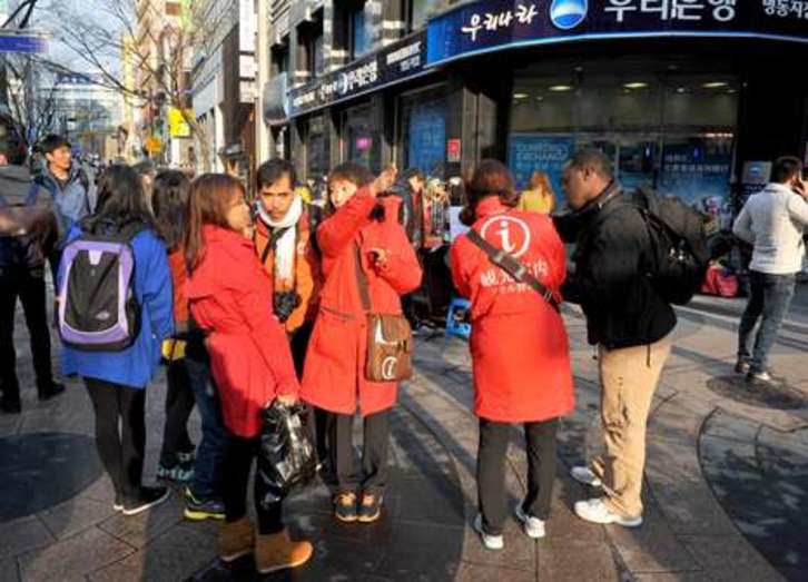
{"label": "blue jeans partly hidden behind woman holding black plastic bag", "polygon": [[223,500],[223,461],[229,435],[221,418],[221,405],[207,362],[185,358],[188,381],[203,421],[203,437],[196,452],[190,490],[197,499]]}

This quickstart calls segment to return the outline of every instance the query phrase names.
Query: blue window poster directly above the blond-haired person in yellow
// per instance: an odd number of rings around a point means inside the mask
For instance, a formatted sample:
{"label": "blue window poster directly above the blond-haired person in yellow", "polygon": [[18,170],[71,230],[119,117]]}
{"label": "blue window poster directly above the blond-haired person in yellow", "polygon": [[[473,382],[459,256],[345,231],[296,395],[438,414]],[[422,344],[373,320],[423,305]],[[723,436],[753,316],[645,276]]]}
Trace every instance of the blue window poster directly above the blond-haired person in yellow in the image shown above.
{"label": "blue window poster directly above the blond-haired person in yellow", "polygon": [[575,140],[572,137],[513,134],[509,141],[508,162],[516,180],[516,188],[526,189],[533,172],[543,171],[550,178],[556,198],[560,198],[561,174],[574,149]]}

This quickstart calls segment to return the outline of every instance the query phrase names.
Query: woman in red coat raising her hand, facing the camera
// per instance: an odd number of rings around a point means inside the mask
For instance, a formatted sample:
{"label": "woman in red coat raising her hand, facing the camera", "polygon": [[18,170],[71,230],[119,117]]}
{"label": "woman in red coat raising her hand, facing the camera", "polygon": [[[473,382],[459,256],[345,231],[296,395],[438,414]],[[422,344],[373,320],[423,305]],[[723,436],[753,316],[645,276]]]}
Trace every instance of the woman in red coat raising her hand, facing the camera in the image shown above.
{"label": "woman in red coat raising her hand, facing the camera", "polygon": [[[377,198],[394,180],[395,169],[374,180],[362,166],[336,167],[328,176],[331,204],[336,210],[317,228],[325,282],[300,395],[333,413],[328,443],[338,483],[334,513],[344,522],[369,523],[381,515],[388,412],[397,392],[394,382],[365,377],[367,324],[357,280],[357,249],[374,313],[401,315],[401,296],[421,283],[421,267],[397,220],[398,198]],[[354,472],[351,437],[357,408],[364,417],[361,476]]]}

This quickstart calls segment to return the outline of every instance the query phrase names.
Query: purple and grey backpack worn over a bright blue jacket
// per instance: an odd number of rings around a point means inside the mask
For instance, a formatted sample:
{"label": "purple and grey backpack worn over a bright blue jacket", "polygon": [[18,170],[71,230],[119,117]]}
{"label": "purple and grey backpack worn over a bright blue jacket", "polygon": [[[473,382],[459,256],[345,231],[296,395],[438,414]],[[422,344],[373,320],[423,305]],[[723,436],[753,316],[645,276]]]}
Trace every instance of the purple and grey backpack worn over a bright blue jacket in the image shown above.
{"label": "purple and grey backpack worn over a bright blue jacket", "polygon": [[130,241],[146,228],[82,233],[62,251],[57,327],[62,343],[85,352],[119,352],[140,332]]}

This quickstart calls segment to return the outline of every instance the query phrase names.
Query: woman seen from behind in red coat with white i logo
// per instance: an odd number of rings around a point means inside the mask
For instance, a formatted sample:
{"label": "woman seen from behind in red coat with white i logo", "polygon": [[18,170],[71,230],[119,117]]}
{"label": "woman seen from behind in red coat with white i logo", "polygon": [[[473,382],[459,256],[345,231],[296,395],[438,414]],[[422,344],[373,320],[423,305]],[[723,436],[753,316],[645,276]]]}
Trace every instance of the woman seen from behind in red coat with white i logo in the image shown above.
{"label": "woman seen from behind in red coat with white i logo", "polygon": [[[497,249],[518,258],[556,300],[565,255],[552,221],[514,210],[519,195],[505,166],[483,160],[467,188],[466,223]],[[503,548],[508,513],[505,454],[511,423],[524,424],[528,496],[515,515],[531,537],[544,536],[555,479],[559,417],[572,412],[570,352],[558,309],[495,266],[467,236],[452,246],[452,278],[471,299],[474,412],[480,417],[474,527],[490,550]]]}

